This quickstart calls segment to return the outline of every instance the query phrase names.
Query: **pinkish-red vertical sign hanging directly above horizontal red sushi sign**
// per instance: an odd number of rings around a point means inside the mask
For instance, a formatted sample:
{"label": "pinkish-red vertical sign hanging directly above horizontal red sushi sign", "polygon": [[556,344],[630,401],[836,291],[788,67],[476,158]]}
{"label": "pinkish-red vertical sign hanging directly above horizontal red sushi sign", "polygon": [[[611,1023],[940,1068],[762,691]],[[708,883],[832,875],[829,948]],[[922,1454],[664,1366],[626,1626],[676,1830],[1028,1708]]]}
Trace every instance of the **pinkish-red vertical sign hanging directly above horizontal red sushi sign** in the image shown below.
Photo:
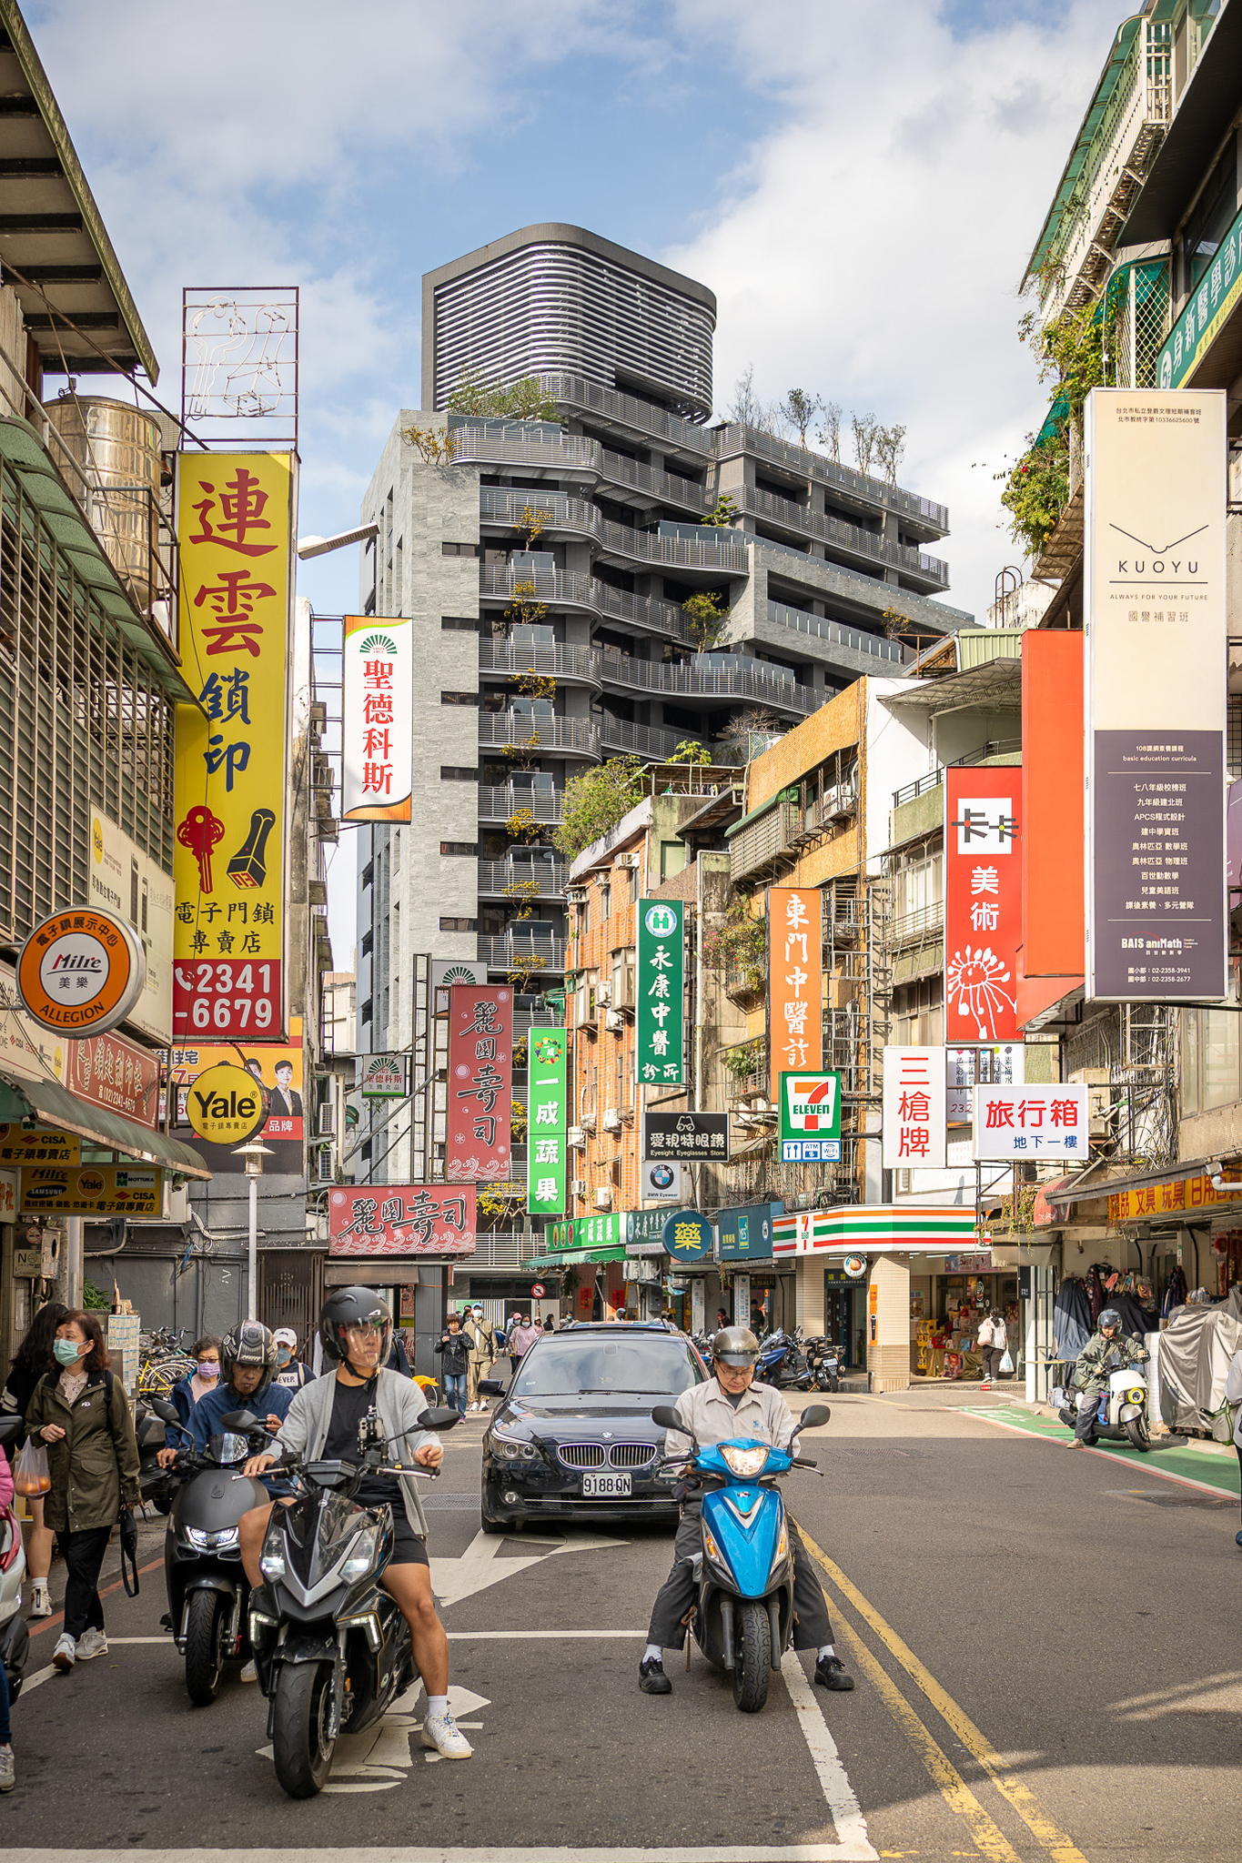
{"label": "pinkish-red vertical sign hanging directly above horizontal red sushi sign", "polygon": [[514,1103],[514,993],[482,984],[449,989],[445,1177],[506,1183]]}

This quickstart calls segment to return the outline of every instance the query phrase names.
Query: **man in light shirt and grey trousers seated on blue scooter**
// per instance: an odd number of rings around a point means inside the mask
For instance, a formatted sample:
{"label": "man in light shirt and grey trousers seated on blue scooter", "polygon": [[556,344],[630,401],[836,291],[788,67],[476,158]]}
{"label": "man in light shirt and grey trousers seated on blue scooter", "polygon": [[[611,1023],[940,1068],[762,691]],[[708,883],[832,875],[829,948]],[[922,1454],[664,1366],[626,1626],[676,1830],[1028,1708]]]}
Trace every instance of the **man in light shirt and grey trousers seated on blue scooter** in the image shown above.
{"label": "man in light shirt and grey trousers seated on blue scooter", "polygon": [[[678,1418],[693,1431],[700,1448],[715,1442],[730,1442],[734,1436],[754,1436],[786,1449],[797,1435],[797,1418],[773,1390],[771,1384],[754,1382],[754,1366],[760,1356],[760,1341],[749,1326],[724,1326],[711,1341],[711,1369],[715,1377],[704,1384],[693,1384],[676,1401]],[[665,1453],[668,1457],[691,1453],[693,1444],[685,1436],[668,1431]],[[790,1526],[793,1516],[786,1515]],[[646,1632],[646,1649],[639,1664],[639,1688],[644,1695],[668,1695],[672,1682],[665,1675],[665,1649],[685,1645],[685,1617],[695,1602],[695,1569],[691,1559],[700,1550],[698,1502],[687,1500],[682,1509],[678,1537],[672,1544],[672,1571],[655,1593],[652,1608],[652,1626]],[[821,1688],[849,1690],[855,1686],[853,1675],[845,1673],[845,1664],[832,1647],[832,1625],[823,1589],[816,1580],[810,1554],[803,1546],[801,1535],[790,1535],[793,1548],[793,1611],[795,1649],[816,1651],[816,1680]]]}

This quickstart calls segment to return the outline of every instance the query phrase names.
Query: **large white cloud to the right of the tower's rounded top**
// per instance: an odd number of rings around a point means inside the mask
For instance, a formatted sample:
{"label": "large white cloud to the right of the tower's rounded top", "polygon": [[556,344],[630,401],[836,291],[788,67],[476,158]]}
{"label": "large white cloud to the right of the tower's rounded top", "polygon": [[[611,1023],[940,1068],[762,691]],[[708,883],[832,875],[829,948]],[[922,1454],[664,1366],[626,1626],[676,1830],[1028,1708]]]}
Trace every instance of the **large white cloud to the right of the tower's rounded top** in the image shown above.
{"label": "large white cloud to the right of the tower's rounded top", "polygon": [[754,363],[763,399],[799,384],[907,423],[901,481],[950,505],[929,548],[948,600],[983,619],[1017,551],[992,471],[1046,406],[1017,287],[1119,9],[1074,0],[966,37],[942,13],[680,0],[683,32],[736,47],[773,127],[665,257],[717,292],[717,404]]}

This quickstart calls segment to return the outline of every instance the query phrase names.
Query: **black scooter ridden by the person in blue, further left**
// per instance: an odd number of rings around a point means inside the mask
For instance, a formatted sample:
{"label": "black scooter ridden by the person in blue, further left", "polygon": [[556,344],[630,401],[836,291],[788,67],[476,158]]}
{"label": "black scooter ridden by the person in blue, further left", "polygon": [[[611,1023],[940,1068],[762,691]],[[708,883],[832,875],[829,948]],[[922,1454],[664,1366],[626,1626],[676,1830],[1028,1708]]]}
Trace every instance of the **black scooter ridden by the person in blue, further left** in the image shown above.
{"label": "black scooter ridden by the person in blue, further left", "polygon": [[[153,1401],[164,1423],[177,1423],[169,1403]],[[250,1654],[250,1580],[242,1569],[238,1526],[251,1507],[272,1498],[261,1481],[242,1474],[242,1462],[268,1446],[251,1418],[250,1431],[212,1436],[207,1453],[179,1449],[171,1468],[175,1500],[164,1535],[168,1617],[177,1652],[186,1660],[186,1693],[197,1708],[220,1690],[225,1662]]]}

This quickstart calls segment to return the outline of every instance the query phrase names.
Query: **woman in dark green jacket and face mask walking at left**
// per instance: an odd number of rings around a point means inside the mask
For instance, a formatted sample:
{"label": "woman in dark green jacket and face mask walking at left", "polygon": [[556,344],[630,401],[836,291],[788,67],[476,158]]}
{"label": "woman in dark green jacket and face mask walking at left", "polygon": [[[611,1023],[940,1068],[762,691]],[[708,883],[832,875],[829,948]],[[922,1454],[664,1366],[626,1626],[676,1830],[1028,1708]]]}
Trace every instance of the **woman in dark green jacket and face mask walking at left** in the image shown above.
{"label": "woman in dark green jacket and face mask walking at left", "polygon": [[35,1384],[26,1431],[47,1444],[52,1490],[43,1518],[65,1559],[65,1626],[58,1669],[104,1656],[99,1571],[121,1505],[138,1507],[138,1444],[121,1379],[93,1313],[69,1313],[52,1341],[56,1371]]}

